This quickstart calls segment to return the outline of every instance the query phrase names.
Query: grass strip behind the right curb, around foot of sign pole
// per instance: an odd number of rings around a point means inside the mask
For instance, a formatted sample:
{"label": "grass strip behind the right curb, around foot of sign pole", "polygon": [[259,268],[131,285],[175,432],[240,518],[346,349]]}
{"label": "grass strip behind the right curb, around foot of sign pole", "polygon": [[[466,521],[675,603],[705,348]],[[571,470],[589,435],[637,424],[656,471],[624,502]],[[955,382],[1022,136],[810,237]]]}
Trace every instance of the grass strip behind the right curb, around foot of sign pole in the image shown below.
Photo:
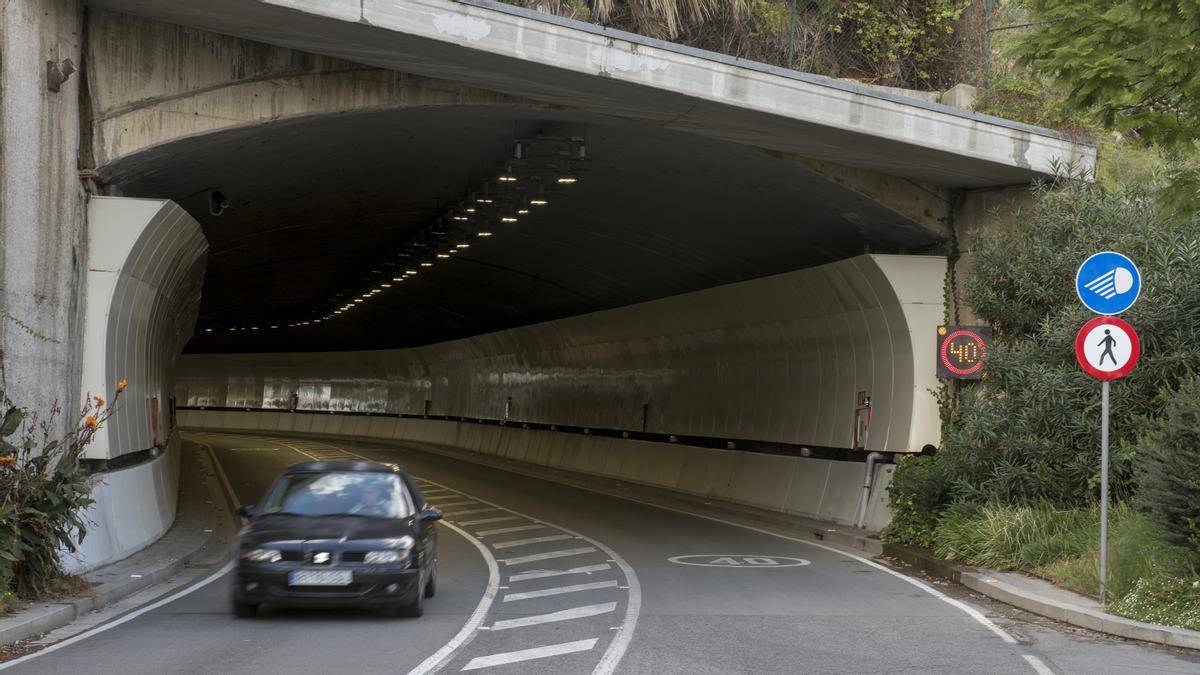
{"label": "grass strip behind the right curb, around foot of sign pole", "polygon": [[[950,509],[934,532],[946,558],[992,569],[1021,569],[1078,593],[1100,590],[1099,508],[986,506]],[[1109,512],[1108,611],[1200,629],[1200,579],[1181,551],[1126,504]]]}

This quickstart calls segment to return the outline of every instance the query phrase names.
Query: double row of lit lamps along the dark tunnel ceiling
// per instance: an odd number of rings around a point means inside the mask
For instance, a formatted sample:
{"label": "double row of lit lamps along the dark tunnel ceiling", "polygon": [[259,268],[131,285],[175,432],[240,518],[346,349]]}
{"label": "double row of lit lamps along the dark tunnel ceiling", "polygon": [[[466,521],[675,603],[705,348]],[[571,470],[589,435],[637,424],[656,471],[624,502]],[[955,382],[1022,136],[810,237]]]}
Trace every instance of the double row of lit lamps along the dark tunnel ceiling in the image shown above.
{"label": "double row of lit lamps along the dark tunnel ceiling", "polygon": [[[512,157],[482,180],[475,190],[468,191],[443,213],[444,215],[385,256],[368,271],[358,291],[342,291],[324,303],[323,309],[305,317],[276,321],[275,325],[307,328],[331,322],[348,313],[364,300],[378,300],[376,295],[395,288],[394,283],[416,276],[416,267],[432,267],[434,259],[448,259],[451,255],[470,247],[467,239],[491,238],[500,233],[499,226],[520,221],[530,207],[550,204],[547,196],[580,183],[580,172],[588,168],[587,151],[582,137],[524,138],[514,142]],[[389,268],[391,270],[389,271]],[[396,274],[403,269],[403,274]],[[395,276],[394,276],[395,275]],[[388,282],[388,280],[391,282]],[[257,322],[262,323],[262,321]],[[198,325],[197,333],[216,329],[258,330],[250,322],[234,325]]]}

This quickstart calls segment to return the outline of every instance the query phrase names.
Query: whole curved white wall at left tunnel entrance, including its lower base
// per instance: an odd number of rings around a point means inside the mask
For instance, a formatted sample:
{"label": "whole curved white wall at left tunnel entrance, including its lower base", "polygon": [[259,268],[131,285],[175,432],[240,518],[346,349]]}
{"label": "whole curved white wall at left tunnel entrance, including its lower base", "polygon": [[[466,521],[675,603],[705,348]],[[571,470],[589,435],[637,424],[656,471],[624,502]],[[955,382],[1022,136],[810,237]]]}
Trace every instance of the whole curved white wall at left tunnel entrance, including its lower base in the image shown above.
{"label": "whole curved white wall at left tunnel entrance, including its lower base", "polygon": [[128,386],[86,450],[101,466],[116,460],[121,468],[92,477],[95,503],[85,514],[92,526],[64,560],[74,573],[140,550],[174,521],[179,437],[170,395],[208,252],[199,223],[158,199],[92,197],[88,238],[82,393],[110,401],[120,380]]}

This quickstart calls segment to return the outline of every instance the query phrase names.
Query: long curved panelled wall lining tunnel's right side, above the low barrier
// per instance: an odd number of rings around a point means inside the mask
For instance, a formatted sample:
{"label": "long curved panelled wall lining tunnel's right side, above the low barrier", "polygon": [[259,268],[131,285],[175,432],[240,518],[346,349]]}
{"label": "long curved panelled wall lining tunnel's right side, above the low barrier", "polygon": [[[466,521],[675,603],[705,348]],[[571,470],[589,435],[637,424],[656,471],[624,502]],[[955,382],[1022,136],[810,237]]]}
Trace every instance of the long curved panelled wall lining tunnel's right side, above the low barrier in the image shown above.
{"label": "long curved panelled wall lining tunnel's right side, above the low barrier", "polygon": [[860,256],[410,350],[197,354],[180,405],[511,419],[850,448],[940,440],[934,334],[946,261]]}

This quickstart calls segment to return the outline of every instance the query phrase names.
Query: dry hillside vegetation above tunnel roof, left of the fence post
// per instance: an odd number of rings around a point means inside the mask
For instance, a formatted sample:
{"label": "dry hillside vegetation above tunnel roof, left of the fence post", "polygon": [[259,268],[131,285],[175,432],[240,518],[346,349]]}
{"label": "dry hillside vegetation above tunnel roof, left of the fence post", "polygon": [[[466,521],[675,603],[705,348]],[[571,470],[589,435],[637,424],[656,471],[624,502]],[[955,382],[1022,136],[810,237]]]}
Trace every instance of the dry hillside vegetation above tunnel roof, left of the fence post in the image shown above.
{"label": "dry hillside vegetation above tunnel roof, left of the fence post", "polygon": [[[946,89],[978,77],[982,0],[509,0],[830,77]],[[974,7],[974,12],[968,8]]]}

